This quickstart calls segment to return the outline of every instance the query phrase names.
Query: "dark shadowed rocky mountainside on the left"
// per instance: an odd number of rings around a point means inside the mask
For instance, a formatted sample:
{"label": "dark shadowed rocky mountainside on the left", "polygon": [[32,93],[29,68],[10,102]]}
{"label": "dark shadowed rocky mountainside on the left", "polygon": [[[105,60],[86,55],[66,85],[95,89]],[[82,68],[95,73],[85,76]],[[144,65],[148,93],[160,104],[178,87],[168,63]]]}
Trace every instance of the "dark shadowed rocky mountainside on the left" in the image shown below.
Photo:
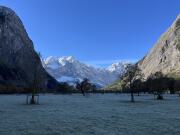
{"label": "dark shadowed rocky mountainside on the left", "polygon": [[0,6],[0,84],[28,88],[37,79],[42,88],[55,81],[42,67],[20,18]]}

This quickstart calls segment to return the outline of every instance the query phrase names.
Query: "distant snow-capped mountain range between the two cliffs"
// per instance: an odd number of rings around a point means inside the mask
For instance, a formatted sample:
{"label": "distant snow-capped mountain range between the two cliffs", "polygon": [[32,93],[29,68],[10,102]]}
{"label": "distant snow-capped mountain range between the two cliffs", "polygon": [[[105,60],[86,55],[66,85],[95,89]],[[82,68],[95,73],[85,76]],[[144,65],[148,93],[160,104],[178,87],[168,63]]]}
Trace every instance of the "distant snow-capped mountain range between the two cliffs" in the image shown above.
{"label": "distant snow-capped mountain range between the two cliffs", "polygon": [[88,78],[91,83],[98,87],[111,84],[125,72],[127,63],[119,62],[107,68],[95,68],[78,61],[72,56],[48,57],[42,60],[46,71],[59,82],[68,82],[74,85],[77,81]]}

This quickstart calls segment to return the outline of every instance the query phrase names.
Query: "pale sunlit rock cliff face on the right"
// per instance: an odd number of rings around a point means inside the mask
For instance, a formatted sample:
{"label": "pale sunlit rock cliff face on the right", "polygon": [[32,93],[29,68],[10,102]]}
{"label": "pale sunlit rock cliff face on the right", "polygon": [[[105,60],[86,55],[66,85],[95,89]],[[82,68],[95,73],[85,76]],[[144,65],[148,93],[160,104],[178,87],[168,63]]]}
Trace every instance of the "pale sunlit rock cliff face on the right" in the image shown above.
{"label": "pale sunlit rock cliff face on the right", "polygon": [[157,71],[180,76],[180,16],[138,65],[145,79]]}

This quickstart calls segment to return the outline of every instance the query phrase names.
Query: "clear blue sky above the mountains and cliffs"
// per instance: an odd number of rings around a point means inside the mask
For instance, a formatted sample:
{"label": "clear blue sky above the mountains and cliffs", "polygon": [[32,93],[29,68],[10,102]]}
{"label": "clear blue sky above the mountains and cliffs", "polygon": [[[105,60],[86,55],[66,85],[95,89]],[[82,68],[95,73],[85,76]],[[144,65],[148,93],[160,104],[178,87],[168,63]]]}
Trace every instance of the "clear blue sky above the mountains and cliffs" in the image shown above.
{"label": "clear blue sky above the mountains and cliffs", "polygon": [[141,59],[180,13],[179,0],[1,0],[43,57],[96,66]]}

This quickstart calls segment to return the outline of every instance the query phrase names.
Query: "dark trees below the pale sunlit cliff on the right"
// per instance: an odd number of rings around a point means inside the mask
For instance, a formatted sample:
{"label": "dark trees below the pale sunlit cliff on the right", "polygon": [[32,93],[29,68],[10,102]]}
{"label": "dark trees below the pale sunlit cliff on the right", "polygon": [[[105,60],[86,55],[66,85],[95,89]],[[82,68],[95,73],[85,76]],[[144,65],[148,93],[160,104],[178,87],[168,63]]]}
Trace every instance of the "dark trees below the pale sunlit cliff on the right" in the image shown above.
{"label": "dark trees below the pale sunlit cliff on the right", "polygon": [[131,93],[131,101],[134,102],[134,93],[148,92],[157,95],[157,99],[163,99],[163,93],[179,93],[180,80],[163,75],[162,72],[151,74],[146,80],[137,65],[127,67],[127,72],[121,76],[122,92]]}

